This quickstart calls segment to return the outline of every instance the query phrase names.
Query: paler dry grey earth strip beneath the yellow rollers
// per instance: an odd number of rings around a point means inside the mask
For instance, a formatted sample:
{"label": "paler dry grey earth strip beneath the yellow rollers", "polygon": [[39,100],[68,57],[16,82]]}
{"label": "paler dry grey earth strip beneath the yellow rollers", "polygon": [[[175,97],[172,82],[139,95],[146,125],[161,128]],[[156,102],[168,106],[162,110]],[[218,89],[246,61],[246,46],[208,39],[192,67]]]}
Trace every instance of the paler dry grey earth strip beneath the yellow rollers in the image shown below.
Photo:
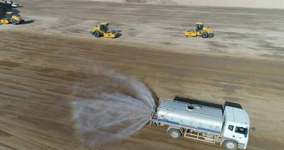
{"label": "paler dry grey earth strip beneath the yellow rollers", "polygon": [[[25,25],[1,25],[0,31],[38,32],[74,38],[94,38],[91,28],[109,22],[121,31],[115,40],[134,45],[154,44],[182,53],[239,57],[284,56],[284,9],[201,7],[163,4],[27,0],[18,8]],[[107,11],[106,11],[107,10]],[[188,28],[204,22],[214,38],[185,37]]]}

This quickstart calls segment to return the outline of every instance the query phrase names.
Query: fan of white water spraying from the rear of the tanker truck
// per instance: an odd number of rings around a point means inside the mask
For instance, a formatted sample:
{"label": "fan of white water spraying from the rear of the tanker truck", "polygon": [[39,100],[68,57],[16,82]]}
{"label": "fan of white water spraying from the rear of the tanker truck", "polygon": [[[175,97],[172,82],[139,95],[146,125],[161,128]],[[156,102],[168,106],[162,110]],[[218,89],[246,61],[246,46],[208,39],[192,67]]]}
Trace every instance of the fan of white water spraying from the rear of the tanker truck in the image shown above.
{"label": "fan of white water spraying from the rear of the tanker truck", "polygon": [[[80,87],[79,92],[94,97],[77,97],[73,103],[81,142],[91,146],[124,139],[134,134],[147,124],[151,109],[155,105],[151,92],[139,80],[113,70],[98,73],[126,90],[105,92],[94,89],[90,93],[82,91]],[[76,91],[75,87],[75,94]]]}

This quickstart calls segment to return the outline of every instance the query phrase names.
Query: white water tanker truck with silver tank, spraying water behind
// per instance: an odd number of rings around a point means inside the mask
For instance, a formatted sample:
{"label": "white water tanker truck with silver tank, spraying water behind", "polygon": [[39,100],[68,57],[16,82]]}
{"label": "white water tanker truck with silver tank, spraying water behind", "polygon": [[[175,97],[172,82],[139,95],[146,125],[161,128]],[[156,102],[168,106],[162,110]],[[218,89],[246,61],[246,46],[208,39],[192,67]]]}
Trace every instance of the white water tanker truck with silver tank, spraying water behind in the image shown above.
{"label": "white water tanker truck with silver tank, spraying water behind", "polygon": [[213,144],[219,143],[227,150],[247,148],[250,124],[249,115],[245,110],[225,106],[222,111],[217,107],[190,104],[176,98],[160,98],[159,105],[152,109],[151,127],[152,124],[168,125],[167,133],[173,139],[183,136]]}

